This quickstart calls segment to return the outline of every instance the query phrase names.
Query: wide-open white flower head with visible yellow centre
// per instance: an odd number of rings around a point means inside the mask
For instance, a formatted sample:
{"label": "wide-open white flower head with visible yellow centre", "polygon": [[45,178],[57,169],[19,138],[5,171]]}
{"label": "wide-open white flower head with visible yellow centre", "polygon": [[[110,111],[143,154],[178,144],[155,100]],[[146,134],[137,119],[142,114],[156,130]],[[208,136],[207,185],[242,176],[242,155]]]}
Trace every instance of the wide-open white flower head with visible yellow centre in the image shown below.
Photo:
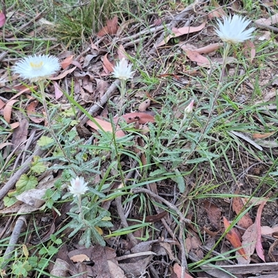
{"label": "wide-open white flower head with visible yellow centre", "polygon": [[49,55],[28,56],[13,67],[15,74],[31,82],[44,81],[57,70],[60,70],[58,58]]}

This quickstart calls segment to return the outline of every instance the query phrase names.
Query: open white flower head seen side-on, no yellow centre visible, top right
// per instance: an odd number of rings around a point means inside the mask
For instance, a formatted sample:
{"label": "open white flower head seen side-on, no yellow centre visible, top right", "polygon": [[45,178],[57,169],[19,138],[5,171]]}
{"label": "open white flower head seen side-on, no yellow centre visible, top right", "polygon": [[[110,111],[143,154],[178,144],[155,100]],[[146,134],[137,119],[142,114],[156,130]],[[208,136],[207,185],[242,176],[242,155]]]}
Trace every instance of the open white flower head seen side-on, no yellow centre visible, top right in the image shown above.
{"label": "open white flower head seen side-on, no yellow centre visible, top right", "polygon": [[218,34],[218,37],[223,41],[229,44],[238,44],[239,42],[244,42],[253,38],[252,32],[255,30],[254,27],[251,27],[247,30],[246,27],[251,23],[251,20],[246,19],[240,15],[234,15],[231,17],[223,17],[224,22],[222,23],[218,19],[218,29],[215,29],[215,32]]}

